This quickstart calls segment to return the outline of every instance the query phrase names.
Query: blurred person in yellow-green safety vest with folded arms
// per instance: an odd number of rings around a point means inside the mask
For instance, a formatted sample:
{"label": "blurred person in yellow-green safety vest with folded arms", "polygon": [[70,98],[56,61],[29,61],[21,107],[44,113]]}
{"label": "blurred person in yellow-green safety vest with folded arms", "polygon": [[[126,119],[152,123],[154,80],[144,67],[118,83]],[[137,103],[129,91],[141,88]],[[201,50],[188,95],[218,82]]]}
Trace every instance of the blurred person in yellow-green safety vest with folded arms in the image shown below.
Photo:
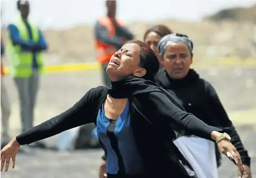
{"label": "blurred person in yellow-green safety vest with folded arms", "polygon": [[[29,1],[17,1],[20,15],[8,25],[8,55],[11,76],[18,89],[22,132],[33,126],[34,109],[39,87],[39,75],[44,70],[42,51],[47,49],[46,41],[36,24],[28,20]],[[44,148],[42,142],[31,146]]]}

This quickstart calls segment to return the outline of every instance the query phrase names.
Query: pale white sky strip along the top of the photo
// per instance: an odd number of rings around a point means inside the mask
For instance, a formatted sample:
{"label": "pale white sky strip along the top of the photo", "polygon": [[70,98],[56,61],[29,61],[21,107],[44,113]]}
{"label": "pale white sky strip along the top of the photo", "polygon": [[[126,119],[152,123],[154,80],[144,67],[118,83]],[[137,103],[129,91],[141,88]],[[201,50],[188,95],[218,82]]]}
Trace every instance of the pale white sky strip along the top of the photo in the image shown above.
{"label": "pale white sky strip along the top of the photo", "polygon": [[[125,22],[152,22],[159,19],[200,21],[220,9],[256,4],[256,0],[120,0],[117,16]],[[7,24],[18,15],[16,1],[2,0],[2,23]],[[42,29],[66,28],[95,23],[105,14],[105,2],[101,0],[39,0],[31,1],[30,19]]]}

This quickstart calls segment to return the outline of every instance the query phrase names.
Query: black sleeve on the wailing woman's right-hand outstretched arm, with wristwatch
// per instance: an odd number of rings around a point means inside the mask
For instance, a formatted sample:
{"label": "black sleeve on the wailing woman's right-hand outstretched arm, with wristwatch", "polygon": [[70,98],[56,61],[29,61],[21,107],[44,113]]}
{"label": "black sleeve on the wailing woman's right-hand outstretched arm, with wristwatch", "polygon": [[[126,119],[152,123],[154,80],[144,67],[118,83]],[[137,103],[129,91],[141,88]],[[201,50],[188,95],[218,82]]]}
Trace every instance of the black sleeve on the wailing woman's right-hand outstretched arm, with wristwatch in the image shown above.
{"label": "black sleeve on the wailing woman's right-hand outstretched arm, with wristwatch", "polygon": [[180,103],[175,105],[164,93],[151,92],[148,99],[150,110],[154,110],[155,115],[159,119],[163,119],[163,123],[175,124],[187,132],[211,141],[213,141],[211,139],[212,131],[223,132],[223,130],[209,126],[193,114],[182,110]]}

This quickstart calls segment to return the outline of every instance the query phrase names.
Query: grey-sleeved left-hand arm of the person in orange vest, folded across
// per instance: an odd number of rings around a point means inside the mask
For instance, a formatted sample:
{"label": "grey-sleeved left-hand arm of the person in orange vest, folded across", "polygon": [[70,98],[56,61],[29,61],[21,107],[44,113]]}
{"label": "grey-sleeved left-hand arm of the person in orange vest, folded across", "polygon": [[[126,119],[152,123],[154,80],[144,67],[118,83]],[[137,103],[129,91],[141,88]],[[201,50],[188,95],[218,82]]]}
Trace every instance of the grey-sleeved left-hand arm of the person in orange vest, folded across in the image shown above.
{"label": "grey-sleeved left-hand arm of the person in orange vest, folded across", "polygon": [[107,44],[113,44],[115,46],[122,46],[123,45],[123,40],[120,37],[114,36],[110,37],[108,30],[105,26],[102,26],[99,21],[96,22],[95,26],[95,37],[99,41],[103,41]]}

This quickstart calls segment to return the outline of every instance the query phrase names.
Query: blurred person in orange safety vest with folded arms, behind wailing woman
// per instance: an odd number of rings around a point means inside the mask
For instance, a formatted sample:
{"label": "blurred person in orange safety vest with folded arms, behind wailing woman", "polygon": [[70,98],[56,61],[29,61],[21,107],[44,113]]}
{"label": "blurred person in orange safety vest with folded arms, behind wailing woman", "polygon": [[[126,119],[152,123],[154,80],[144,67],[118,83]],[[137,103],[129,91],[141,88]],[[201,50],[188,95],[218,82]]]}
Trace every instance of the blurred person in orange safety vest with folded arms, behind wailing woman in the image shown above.
{"label": "blurred person in orange safety vest with folded arms, behind wailing woman", "polygon": [[133,39],[133,34],[125,28],[121,20],[116,19],[116,1],[106,1],[107,14],[99,17],[95,25],[95,44],[98,62],[102,65],[106,86],[111,85],[106,68],[110,58],[124,42]]}

